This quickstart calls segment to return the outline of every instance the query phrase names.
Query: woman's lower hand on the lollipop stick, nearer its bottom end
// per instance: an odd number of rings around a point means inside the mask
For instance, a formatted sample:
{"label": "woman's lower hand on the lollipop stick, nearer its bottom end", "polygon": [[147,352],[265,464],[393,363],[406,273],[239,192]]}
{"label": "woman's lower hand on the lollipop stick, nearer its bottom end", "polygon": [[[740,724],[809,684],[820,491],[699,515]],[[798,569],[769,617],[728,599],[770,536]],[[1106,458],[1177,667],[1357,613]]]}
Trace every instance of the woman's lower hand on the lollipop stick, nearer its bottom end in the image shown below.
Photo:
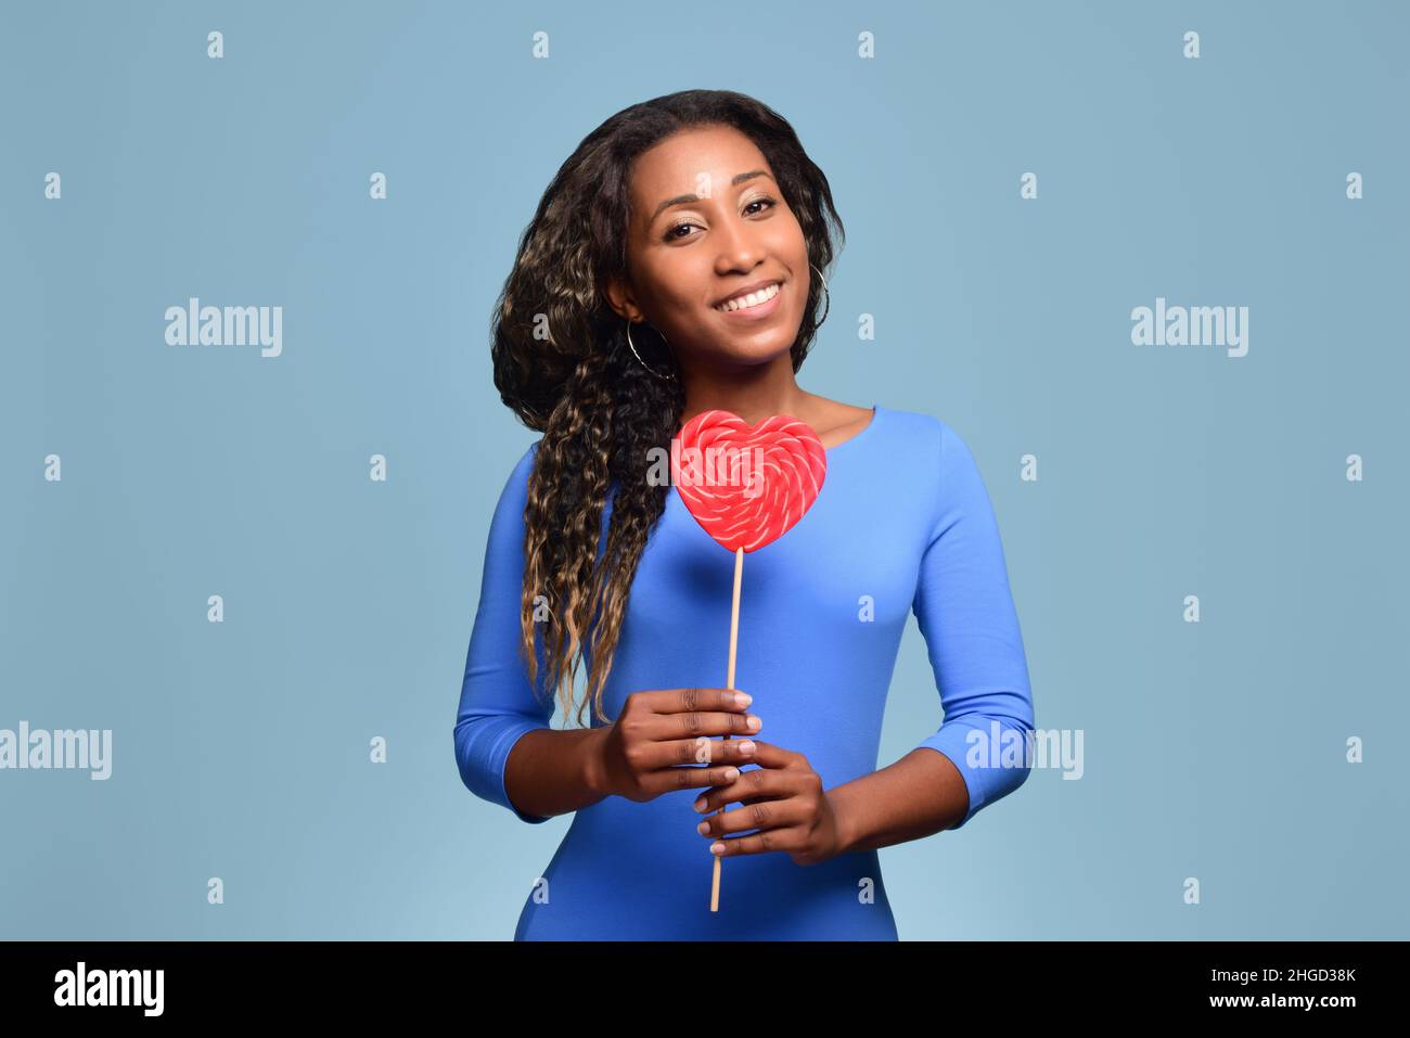
{"label": "woman's lower hand on the lollipop stick, nearer its bottom end", "polygon": [[[704,812],[742,804],[701,824],[701,835],[715,841],[711,852],[729,857],[787,850],[795,865],[818,865],[840,853],[838,817],[822,788],[822,776],[802,753],[753,738],[750,742],[759,767],[742,770],[733,783],[713,786],[695,801],[695,810]],[[730,836],[746,829],[757,832]]]}

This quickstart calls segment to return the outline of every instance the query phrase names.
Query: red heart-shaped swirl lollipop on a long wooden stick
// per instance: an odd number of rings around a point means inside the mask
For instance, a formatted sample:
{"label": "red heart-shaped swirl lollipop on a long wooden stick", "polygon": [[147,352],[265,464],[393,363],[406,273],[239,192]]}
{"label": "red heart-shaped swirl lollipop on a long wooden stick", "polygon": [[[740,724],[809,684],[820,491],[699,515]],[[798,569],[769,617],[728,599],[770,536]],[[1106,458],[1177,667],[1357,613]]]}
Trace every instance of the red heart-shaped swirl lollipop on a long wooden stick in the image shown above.
{"label": "red heart-shaped swirl lollipop on a long wooden stick", "polygon": [[[757,551],[791,530],[818,499],[826,472],[828,451],[822,440],[790,415],[774,415],[750,426],[728,410],[705,410],[671,441],[671,482],[677,494],[705,532],[735,553],[726,688],[735,687],[744,553]],[[716,855],[712,912],[719,911],[719,869]]]}

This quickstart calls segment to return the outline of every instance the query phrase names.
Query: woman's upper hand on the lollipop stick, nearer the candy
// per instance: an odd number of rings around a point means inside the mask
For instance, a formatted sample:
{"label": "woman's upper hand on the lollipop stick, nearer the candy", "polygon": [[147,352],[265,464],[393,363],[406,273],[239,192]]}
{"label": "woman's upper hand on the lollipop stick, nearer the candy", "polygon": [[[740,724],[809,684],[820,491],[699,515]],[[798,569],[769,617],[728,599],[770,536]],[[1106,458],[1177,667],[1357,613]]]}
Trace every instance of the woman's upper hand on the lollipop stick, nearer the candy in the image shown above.
{"label": "woman's upper hand on the lollipop stick, nearer the candy", "polygon": [[736,766],[753,760],[754,743],[709,736],[757,733],[763,721],[746,712],[750,698],[737,688],[632,692],[598,742],[603,795],[643,802],[674,790],[735,781]]}

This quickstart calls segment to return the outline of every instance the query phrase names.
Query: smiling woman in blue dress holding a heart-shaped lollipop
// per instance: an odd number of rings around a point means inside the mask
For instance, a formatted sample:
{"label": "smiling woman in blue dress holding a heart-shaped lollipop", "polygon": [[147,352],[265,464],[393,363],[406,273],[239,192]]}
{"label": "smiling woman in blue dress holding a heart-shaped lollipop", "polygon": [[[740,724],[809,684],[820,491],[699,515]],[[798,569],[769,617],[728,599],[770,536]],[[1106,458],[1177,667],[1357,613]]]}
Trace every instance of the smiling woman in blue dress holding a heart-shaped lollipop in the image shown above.
{"label": "smiling woman in blue dress holding a heart-shaped lollipop", "polygon": [[[967,447],[794,378],[826,317],[828,217],[840,233],[777,113],[688,90],[589,134],[523,234],[495,385],[543,436],[491,523],[455,723],[471,791],[526,822],[575,812],[516,939],[894,941],[876,849],[959,828],[1028,774],[990,749],[1022,745],[1032,697]],[[721,688],[735,558],[647,478],[716,408],[801,419],[828,458],[812,508],[744,567],[749,702]],[[945,723],[878,771],[911,609]],[[592,722],[553,729],[580,663]]]}

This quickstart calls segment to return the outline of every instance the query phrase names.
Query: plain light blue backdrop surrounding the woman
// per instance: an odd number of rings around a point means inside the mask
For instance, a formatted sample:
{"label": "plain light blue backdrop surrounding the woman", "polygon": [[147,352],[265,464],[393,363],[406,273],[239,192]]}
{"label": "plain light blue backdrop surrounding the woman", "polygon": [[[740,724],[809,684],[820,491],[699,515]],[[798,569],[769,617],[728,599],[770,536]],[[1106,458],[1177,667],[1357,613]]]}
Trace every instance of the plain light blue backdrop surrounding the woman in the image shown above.
{"label": "plain light blue backdrop surrounding the woman", "polygon": [[[578,140],[699,86],[829,176],[799,381],[966,439],[1038,726],[1084,732],[1080,781],[881,852],[902,939],[1410,936],[1407,52],[1392,3],[7,4],[0,728],[114,749],[0,773],[0,936],[512,935],[570,818],[453,757],[536,439],[489,315]],[[192,295],[282,305],[283,355],[165,346]],[[1248,355],[1134,347],[1156,296],[1249,306]],[[939,722],[912,618],[878,764]]]}

